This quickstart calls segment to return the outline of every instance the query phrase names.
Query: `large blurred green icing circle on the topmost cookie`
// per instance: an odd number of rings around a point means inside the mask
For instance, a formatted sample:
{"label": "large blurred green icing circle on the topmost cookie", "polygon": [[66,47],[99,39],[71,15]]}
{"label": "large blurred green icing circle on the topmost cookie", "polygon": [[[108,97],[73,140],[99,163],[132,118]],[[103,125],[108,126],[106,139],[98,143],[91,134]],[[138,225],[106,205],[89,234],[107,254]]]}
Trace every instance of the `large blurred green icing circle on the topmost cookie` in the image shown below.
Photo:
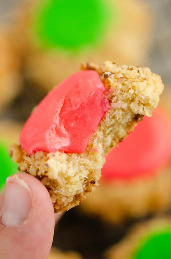
{"label": "large blurred green icing circle on the topmost cookie", "polygon": [[[105,35],[110,11],[105,0],[42,0],[32,13],[32,36],[46,49],[72,52],[96,46]],[[116,13],[114,8],[112,17]]]}

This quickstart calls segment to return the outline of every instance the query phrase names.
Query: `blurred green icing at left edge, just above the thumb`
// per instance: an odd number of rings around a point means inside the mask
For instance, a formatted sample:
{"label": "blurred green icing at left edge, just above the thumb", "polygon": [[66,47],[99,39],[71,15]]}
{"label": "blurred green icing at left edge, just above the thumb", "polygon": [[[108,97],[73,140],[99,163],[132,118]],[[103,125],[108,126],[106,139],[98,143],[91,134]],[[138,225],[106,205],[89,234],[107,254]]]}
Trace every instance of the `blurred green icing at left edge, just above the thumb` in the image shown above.
{"label": "blurred green icing at left edge, just above the thumb", "polygon": [[18,171],[17,164],[12,161],[11,157],[8,154],[8,146],[8,143],[0,140],[0,190],[5,185],[6,178],[12,174],[15,174]]}

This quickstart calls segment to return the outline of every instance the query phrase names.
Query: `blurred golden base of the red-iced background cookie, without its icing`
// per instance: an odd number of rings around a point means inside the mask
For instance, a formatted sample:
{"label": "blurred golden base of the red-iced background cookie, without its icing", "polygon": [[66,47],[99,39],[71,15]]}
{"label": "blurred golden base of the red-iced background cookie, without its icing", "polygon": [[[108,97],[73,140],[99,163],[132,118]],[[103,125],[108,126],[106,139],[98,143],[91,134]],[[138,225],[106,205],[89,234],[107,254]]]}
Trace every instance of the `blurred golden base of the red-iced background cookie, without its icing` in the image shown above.
{"label": "blurred golden base of the red-iced background cookie, without its icing", "polygon": [[[171,119],[170,98],[171,92],[165,89],[159,105]],[[99,187],[87,196],[79,209],[112,224],[168,210],[171,206],[170,171],[171,154],[170,162],[153,174],[129,181],[111,179],[110,182],[100,182]]]}

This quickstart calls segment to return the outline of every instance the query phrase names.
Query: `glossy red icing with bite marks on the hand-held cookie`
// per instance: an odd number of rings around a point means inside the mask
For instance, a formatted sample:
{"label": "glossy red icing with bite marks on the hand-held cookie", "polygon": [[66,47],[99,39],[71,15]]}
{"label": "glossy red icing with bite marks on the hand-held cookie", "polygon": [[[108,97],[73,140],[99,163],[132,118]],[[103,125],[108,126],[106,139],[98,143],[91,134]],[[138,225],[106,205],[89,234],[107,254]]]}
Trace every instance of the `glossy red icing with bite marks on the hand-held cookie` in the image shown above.
{"label": "glossy red icing with bite marks on the hand-held cookie", "polygon": [[20,135],[27,154],[45,152],[83,153],[91,134],[110,108],[105,86],[96,71],[69,76],[41,101]]}

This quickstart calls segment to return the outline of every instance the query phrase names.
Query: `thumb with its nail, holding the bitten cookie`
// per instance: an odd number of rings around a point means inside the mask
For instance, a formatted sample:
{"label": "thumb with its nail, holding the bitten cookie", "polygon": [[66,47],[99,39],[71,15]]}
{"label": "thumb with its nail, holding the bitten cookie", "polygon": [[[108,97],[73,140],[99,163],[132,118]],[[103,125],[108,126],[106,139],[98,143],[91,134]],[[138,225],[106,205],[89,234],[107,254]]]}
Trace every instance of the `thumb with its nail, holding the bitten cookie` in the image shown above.
{"label": "thumb with its nail, holding the bitten cookie", "polygon": [[11,176],[0,206],[0,258],[47,259],[55,217],[44,185],[28,174]]}

